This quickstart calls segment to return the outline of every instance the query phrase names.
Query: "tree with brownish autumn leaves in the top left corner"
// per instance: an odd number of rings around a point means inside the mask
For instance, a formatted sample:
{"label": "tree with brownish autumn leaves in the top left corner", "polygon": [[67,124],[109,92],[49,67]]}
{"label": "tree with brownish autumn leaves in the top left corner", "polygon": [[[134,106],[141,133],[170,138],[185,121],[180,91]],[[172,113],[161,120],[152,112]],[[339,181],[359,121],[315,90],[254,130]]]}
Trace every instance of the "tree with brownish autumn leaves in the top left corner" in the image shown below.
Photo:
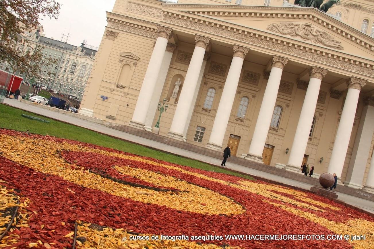
{"label": "tree with brownish autumn leaves in the top left corner", "polygon": [[40,18],[56,18],[59,10],[56,0],[0,0],[0,63],[30,76],[36,76],[42,65],[56,63],[54,59],[44,59],[44,47],[31,46],[22,34],[36,31]]}

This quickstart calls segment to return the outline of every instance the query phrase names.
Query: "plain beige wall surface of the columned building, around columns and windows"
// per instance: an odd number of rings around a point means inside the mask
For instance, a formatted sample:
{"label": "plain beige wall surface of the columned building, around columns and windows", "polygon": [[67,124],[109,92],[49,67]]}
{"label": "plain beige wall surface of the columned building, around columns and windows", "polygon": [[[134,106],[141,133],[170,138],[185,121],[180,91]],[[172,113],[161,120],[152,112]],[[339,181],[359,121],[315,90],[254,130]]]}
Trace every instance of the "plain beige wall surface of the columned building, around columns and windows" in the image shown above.
{"label": "plain beige wall surface of the columned building, around columns and windows", "polygon": [[[158,22],[156,17],[139,15],[136,13],[129,13],[128,11],[126,11],[127,2],[128,1],[126,0],[117,0],[113,8],[113,12],[133,16],[134,18],[142,18],[142,20],[145,20],[147,22],[153,22],[153,24],[149,23],[148,25],[155,27],[154,24]],[[181,2],[193,3],[193,1],[188,0],[180,0],[179,3]],[[202,2],[212,4],[217,3],[218,1],[199,0],[199,3]],[[243,0],[243,4],[247,2],[251,2],[249,4],[254,4],[255,1]],[[272,0],[272,2],[274,3],[275,1]],[[281,2],[283,1],[279,1],[279,5],[281,5]],[[157,1],[143,0],[142,3],[147,4],[147,6],[161,8],[160,4],[157,3]],[[267,25],[274,22],[273,20],[267,20],[266,18],[263,18],[263,20],[260,21],[257,21],[255,19],[244,18],[227,18],[226,20],[230,22],[235,21],[243,26],[249,25],[251,22],[253,23],[256,21],[255,27],[264,30],[266,30]],[[139,24],[144,25],[144,23]],[[254,24],[251,25],[254,26]],[[108,25],[107,30],[113,31],[114,29],[111,28],[110,25]],[[99,47],[99,51],[98,53],[96,53],[97,59],[95,60],[95,65],[93,66],[91,72],[90,83],[87,85],[86,90],[89,91],[90,88],[92,89],[96,87],[97,93],[95,94],[95,97],[93,99],[87,99],[87,96],[85,94],[86,98],[83,100],[82,106],[85,107],[88,105],[88,102],[92,102],[94,112],[93,116],[95,118],[100,118],[112,122],[113,119],[107,118],[107,115],[110,113],[110,110],[111,108],[113,108],[113,106],[118,106],[118,111],[115,115],[115,122],[117,124],[127,124],[132,118],[135,105],[138,101],[137,96],[139,94],[142,85],[142,80],[144,78],[144,74],[147,70],[148,62],[153,51],[153,43],[154,41],[156,41],[156,39],[154,37],[151,38],[147,37],[146,35],[134,34],[132,32],[120,29],[116,29],[116,32],[118,32],[118,36],[115,38],[115,40],[112,42],[113,44],[109,48],[105,47],[108,38],[105,35],[103,36],[101,45]],[[368,50],[362,46],[359,46],[359,44],[352,43],[349,40],[341,39],[341,37],[339,37],[338,35],[335,35],[335,38],[342,40],[343,46],[346,48],[344,50],[344,53],[349,53],[350,51],[354,50],[355,55],[357,55],[358,57],[370,57],[368,59],[373,60],[373,55],[370,55],[370,53],[368,53]],[[285,37],[284,39],[291,40],[293,38]],[[299,39],[298,42],[303,43],[304,41],[301,41]],[[183,77],[186,76],[188,63],[178,62],[178,53],[185,52],[192,54],[193,49],[194,44],[178,41],[178,47],[177,49],[175,49],[173,57],[171,59],[171,65],[166,76],[160,100],[168,97],[168,93],[170,94],[171,88],[174,88],[173,77],[175,77],[175,75],[182,75]],[[107,55],[106,58],[102,57],[103,52]],[[122,65],[120,62],[120,53],[131,53],[139,57],[139,59],[136,62],[136,65],[132,65],[132,77],[129,81],[128,86],[124,89],[116,87],[116,80],[120,72],[120,66]],[[203,69],[204,76],[202,79],[202,84],[200,85],[196,106],[194,107],[193,116],[191,118],[190,125],[188,126],[188,143],[197,144],[200,146],[205,146],[206,143],[208,143],[218,104],[220,102],[220,99],[224,98],[223,86],[226,80],[231,60],[232,56],[221,55],[219,53],[211,53],[211,57],[206,63],[205,68]],[[212,73],[210,70],[212,62],[218,62],[221,65],[226,66],[225,74],[219,75]],[[226,134],[224,136],[223,141],[223,145],[226,145],[228,143],[228,138],[230,134],[234,134],[236,136],[241,137],[237,151],[237,156],[240,156],[242,153],[248,152],[249,144],[254,133],[255,122],[257,120],[257,116],[260,110],[261,102],[267,84],[267,80],[266,78],[264,78],[263,75],[263,72],[266,69],[268,69],[267,65],[261,63],[249,62],[248,60],[245,60],[245,62],[243,63],[242,73],[243,70],[254,72],[259,75],[259,81],[258,85],[240,81],[239,86],[237,88],[236,99],[232,108],[229,124],[227,126]],[[350,72],[345,71],[344,73],[347,76],[349,76]],[[292,149],[291,146],[292,141],[294,139],[296,126],[298,123],[298,117],[300,115],[301,106],[303,105],[304,96],[306,94],[306,90],[298,88],[297,78],[297,74],[292,74],[290,72],[283,72],[282,75],[282,81],[286,81],[289,84],[291,84],[292,91],[290,93],[278,93],[276,105],[280,105],[283,108],[281,123],[279,125],[278,131],[270,130],[267,136],[266,143],[275,146],[272,161],[270,163],[270,165],[273,166],[275,166],[276,163],[286,164],[286,162],[288,161],[289,153],[288,155],[286,155],[285,150],[287,147]],[[242,77],[240,77],[240,79],[242,79]],[[215,89],[216,94],[211,112],[207,113],[203,111],[202,107],[205,100],[206,91],[210,87],[213,87]],[[317,174],[321,174],[322,172],[325,172],[327,170],[329,159],[331,157],[335,134],[339,124],[338,119],[341,115],[343,99],[346,94],[346,90],[343,89],[343,96],[341,96],[340,99],[331,98],[329,94],[330,88],[331,84],[322,81],[321,91],[326,93],[326,97],[323,103],[317,104],[317,108],[315,111],[315,128],[313,136],[310,139],[311,141],[309,141],[305,152],[307,155],[309,155],[308,164],[315,166],[314,172]],[[102,100],[100,96],[106,96],[108,97],[108,99]],[[243,96],[249,98],[249,106],[244,118],[244,122],[240,122],[235,120],[235,116],[239,106],[240,98]],[[160,134],[164,136],[166,136],[166,134],[169,131],[174,116],[175,108],[177,106],[176,103],[171,102],[168,102],[168,105],[169,108],[167,112],[162,114],[162,118],[160,120]],[[361,96],[359,100],[358,111],[356,113],[356,123],[352,129],[349,149],[347,152],[343,173],[341,176],[343,181],[346,177],[346,172],[350,161],[350,155],[352,153],[352,147],[355,141],[357,128],[360,120],[362,106],[363,100]],[[156,113],[154,117],[153,125],[156,123],[157,118],[158,113]],[[197,126],[206,128],[202,143],[193,141],[193,137]],[[373,146],[374,139],[371,144],[371,154],[373,153]],[[324,158],[322,164],[319,163],[319,159],[321,157]],[[369,165],[370,157],[368,158],[367,169],[365,171],[363,184],[366,181]]]}

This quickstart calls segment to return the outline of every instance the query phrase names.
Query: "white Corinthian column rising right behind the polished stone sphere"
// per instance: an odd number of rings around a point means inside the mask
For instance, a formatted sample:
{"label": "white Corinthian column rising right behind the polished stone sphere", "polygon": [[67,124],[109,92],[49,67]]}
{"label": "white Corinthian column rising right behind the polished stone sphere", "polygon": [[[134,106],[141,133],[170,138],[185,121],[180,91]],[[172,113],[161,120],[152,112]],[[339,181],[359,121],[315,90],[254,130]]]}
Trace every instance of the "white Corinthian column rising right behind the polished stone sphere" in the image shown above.
{"label": "white Corinthian column rising right behind the polished stone sphere", "polygon": [[353,122],[355,121],[358,97],[364,85],[366,85],[366,80],[355,77],[351,77],[347,81],[348,92],[346,102],[344,103],[343,112],[341,113],[330,163],[327,169],[327,172],[331,174],[335,173],[338,178],[341,177],[341,172],[343,171]]}

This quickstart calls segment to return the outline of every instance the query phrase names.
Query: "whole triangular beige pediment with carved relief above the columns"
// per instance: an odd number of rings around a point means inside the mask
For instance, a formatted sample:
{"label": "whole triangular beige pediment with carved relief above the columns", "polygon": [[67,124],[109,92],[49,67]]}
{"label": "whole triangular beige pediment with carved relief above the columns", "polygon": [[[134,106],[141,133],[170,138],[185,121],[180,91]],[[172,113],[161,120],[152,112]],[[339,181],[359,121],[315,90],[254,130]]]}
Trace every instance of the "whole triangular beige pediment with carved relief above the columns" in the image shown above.
{"label": "whole triangular beige pediment with carved relief above the columns", "polygon": [[316,49],[332,49],[350,55],[354,52],[354,56],[374,59],[372,37],[313,8],[221,4],[163,4],[163,7],[219,24],[212,27],[240,28],[256,35],[269,34],[298,46],[314,45]]}

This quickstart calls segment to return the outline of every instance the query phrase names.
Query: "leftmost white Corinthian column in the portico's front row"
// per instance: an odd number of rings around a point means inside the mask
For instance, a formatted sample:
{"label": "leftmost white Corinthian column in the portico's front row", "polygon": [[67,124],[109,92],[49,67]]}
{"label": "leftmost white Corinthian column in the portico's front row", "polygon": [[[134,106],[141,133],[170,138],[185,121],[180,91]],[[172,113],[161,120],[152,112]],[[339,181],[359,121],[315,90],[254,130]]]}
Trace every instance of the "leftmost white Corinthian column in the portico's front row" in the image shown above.
{"label": "leftmost white Corinthian column in the portico's front row", "polygon": [[134,114],[129,123],[129,125],[142,129],[144,129],[149,104],[156,86],[168,39],[172,32],[172,29],[161,26],[157,26],[157,30],[159,33],[156,44],[154,45],[151,59],[149,60],[147,71],[145,72]]}

